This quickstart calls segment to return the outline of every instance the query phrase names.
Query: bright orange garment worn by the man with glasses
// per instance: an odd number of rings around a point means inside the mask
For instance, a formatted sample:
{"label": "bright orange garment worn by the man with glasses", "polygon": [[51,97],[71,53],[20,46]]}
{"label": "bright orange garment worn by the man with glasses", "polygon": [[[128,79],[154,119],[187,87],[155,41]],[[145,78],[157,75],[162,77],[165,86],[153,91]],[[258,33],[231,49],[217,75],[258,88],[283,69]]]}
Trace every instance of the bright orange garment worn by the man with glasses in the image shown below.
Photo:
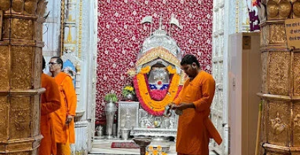
{"label": "bright orange garment worn by the man with glasses", "polygon": [[54,77],[61,94],[61,108],[53,112],[53,124],[55,127],[56,143],[66,144],[69,141],[75,143],[74,120],[66,124],[68,115],[76,115],[77,98],[72,78],[66,73],[59,73]]}

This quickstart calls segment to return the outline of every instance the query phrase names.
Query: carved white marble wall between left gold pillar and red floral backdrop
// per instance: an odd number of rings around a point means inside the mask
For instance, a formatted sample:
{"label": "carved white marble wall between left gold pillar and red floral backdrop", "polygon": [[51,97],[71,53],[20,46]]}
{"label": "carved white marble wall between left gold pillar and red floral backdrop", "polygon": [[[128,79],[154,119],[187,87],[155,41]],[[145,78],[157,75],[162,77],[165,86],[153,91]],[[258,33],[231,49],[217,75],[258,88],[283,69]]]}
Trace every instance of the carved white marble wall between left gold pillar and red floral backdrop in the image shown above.
{"label": "carved white marble wall between left gold pillar and red floral backdrop", "polygon": [[[97,3],[89,0],[49,1],[43,25],[46,61],[61,55],[76,71],[76,144],[72,154],[88,154],[95,118],[95,65],[97,58]],[[63,26],[61,26],[63,23]],[[61,37],[63,36],[63,37]],[[48,70],[45,70],[47,73]]]}

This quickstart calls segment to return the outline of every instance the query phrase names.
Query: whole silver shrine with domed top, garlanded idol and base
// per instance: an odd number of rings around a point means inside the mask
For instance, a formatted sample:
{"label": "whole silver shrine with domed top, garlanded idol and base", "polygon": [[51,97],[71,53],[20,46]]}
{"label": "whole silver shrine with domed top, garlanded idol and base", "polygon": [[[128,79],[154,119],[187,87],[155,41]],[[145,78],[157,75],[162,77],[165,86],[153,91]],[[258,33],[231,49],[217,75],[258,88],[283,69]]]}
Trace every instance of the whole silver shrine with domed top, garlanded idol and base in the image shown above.
{"label": "whole silver shrine with domed top, garlanded idol and base", "polygon": [[[152,20],[148,22],[152,23]],[[182,55],[176,41],[163,29],[160,17],[159,28],[154,32],[150,31],[150,36],[145,38],[133,68],[136,74],[133,85],[138,90],[136,94],[140,102],[119,102],[118,138],[121,129],[131,128],[130,135],[133,137],[152,137],[154,141],[169,141],[170,137],[176,139],[177,115],[173,110],[170,117],[164,117],[162,113],[163,107],[175,99],[177,86],[183,84],[185,74],[180,69]],[[150,69],[145,72],[145,68]],[[147,79],[145,82],[143,77]],[[138,78],[140,80],[136,80]],[[148,95],[150,99],[147,98]]]}

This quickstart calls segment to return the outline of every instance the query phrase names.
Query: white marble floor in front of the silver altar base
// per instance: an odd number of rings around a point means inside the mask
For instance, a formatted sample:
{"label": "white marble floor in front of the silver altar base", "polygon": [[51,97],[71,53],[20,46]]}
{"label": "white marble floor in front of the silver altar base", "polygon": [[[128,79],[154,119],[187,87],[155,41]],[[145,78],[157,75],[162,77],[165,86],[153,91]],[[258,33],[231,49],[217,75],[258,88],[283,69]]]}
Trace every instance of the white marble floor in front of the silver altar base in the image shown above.
{"label": "white marble floor in front of the silver altar base", "polygon": [[[132,140],[107,140],[107,139],[95,139],[93,141],[93,148],[92,151],[90,151],[90,155],[93,154],[140,154],[140,149],[112,149],[110,148],[110,145],[112,142],[117,141],[132,141]],[[151,145],[151,144],[150,144]],[[170,142],[170,151],[167,152],[168,155],[177,155],[175,151],[175,142]],[[213,151],[210,152],[210,155],[216,155]]]}

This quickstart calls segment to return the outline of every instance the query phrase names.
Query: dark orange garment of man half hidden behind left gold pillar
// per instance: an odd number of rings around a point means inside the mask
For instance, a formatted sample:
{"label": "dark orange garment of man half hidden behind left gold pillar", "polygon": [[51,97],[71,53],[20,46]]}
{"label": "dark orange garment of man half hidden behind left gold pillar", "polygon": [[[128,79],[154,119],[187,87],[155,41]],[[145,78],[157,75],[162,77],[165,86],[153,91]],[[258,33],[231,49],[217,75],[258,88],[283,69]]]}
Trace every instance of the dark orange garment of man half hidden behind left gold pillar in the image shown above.
{"label": "dark orange garment of man half hidden behind left gold pillar", "polygon": [[55,80],[43,73],[41,74],[41,87],[46,88],[46,91],[41,94],[40,129],[43,139],[41,139],[38,154],[51,155],[56,154],[51,112],[61,108],[61,96],[59,95],[58,85]]}

